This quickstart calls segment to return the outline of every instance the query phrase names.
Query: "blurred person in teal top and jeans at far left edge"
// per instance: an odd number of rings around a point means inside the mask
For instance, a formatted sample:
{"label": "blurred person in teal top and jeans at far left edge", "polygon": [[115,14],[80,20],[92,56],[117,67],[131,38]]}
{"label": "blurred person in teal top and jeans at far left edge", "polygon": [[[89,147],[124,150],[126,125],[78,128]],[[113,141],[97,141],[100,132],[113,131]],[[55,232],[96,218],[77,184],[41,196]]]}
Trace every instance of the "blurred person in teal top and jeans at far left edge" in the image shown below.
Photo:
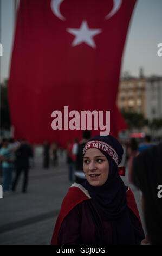
{"label": "blurred person in teal top and jeans at far left edge", "polygon": [[0,159],[2,161],[2,187],[3,193],[8,193],[11,188],[12,177],[15,168],[15,156],[14,151],[20,147],[19,143],[14,143],[13,139],[10,139],[10,143],[7,139],[2,139],[2,147],[0,149]]}

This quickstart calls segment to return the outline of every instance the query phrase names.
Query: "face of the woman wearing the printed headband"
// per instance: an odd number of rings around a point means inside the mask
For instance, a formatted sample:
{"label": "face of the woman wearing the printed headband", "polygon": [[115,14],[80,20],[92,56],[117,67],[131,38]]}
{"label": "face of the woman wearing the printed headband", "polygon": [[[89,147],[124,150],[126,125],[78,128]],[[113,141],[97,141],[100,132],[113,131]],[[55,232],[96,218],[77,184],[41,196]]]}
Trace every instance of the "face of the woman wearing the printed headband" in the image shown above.
{"label": "face of the woman wearing the printed headband", "polygon": [[90,148],[83,157],[83,170],[90,185],[102,186],[108,178],[109,163],[99,149]]}

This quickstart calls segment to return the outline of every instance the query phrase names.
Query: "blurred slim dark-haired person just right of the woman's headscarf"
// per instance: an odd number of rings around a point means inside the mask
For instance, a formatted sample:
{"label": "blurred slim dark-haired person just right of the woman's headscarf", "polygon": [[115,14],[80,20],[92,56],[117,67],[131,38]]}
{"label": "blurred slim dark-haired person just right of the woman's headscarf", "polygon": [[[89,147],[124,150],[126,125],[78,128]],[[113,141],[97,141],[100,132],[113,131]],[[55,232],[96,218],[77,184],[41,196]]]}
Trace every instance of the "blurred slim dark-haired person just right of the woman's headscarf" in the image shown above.
{"label": "blurred slim dark-haired person just right of the woman's headscarf", "polygon": [[138,156],[138,142],[135,138],[131,138],[128,148],[127,148],[127,154],[128,154],[128,178],[129,182],[132,183],[132,163],[135,156]]}

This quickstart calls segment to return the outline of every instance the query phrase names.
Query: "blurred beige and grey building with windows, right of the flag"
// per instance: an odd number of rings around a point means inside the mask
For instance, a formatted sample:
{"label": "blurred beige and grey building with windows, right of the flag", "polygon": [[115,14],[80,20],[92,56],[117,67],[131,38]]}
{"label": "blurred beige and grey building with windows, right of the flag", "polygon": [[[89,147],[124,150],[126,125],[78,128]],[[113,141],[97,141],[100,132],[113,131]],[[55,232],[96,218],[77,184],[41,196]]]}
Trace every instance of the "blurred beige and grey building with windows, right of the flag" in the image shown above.
{"label": "blurred beige and grey building with windows, right of the flag", "polygon": [[120,111],[142,113],[149,121],[162,118],[162,77],[122,79],[117,105]]}

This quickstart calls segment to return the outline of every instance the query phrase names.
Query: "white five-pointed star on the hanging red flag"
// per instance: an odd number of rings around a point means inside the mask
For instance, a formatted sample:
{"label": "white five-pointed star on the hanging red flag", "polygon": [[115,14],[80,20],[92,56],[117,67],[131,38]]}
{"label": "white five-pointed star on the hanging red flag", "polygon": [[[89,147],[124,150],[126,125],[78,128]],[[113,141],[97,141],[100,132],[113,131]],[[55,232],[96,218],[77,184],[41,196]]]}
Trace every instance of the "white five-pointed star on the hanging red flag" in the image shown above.
{"label": "white five-pointed star on the hanging red flag", "polygon": [[72,46],[76,46],[82,44],[82,42],[85,42],[85,44],[91,46],[92,48],[96,48],[93,36],[101,33],[102,29],[90,29],[88,27],[87,21],[82,21],[79,29],[67,28],[67,32],[76,36],[72,42]]}

